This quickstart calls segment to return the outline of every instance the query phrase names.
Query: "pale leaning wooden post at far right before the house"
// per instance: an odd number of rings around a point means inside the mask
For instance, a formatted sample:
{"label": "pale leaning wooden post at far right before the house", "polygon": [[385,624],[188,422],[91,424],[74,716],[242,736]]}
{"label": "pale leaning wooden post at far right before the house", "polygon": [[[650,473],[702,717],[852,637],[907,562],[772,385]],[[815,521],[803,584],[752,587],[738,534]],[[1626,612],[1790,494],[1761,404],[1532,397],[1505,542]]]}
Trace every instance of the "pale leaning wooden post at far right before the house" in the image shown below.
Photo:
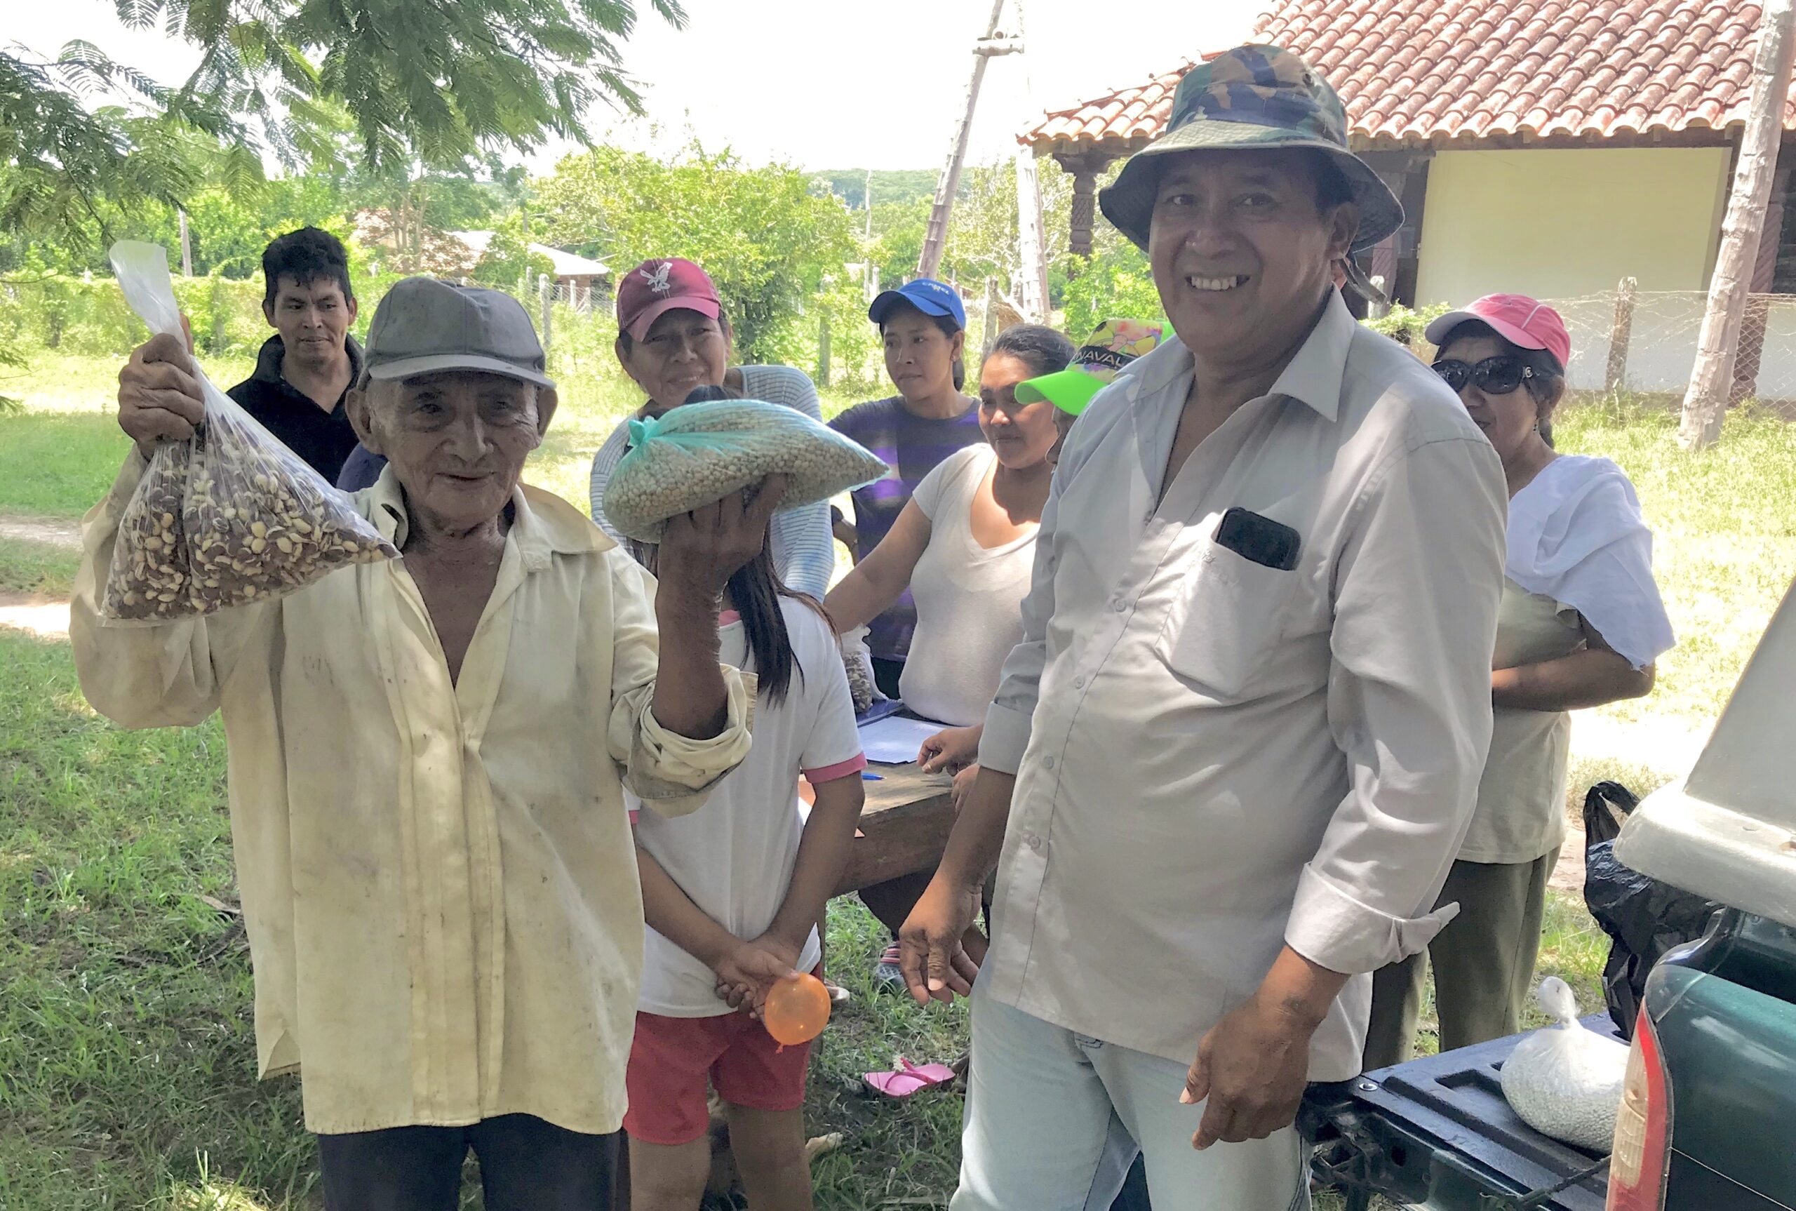
{"label": "pale leaning wooden post at far right before the house", "polygon": [[[1695,345],[1695,367],[1685,393],[1677,440],[1685,449],[1703,449],[1721,437],[1721,420],[1733,386],[1733,359],[1740,347],[1740,316],[1751,289],[1753,264],[1776,174],[1783,138],[1783,106],[1791,92],[1791,56],[1796,38],[1791,0],[1767,0],[1760,7],[1758,52],[1753,56],[1753,99],[1740,137],[1740,160],[1721,225],[1721,250],[1708,280],[1708,311]],[[1776,234],[1771,234],[1776,239]]]}

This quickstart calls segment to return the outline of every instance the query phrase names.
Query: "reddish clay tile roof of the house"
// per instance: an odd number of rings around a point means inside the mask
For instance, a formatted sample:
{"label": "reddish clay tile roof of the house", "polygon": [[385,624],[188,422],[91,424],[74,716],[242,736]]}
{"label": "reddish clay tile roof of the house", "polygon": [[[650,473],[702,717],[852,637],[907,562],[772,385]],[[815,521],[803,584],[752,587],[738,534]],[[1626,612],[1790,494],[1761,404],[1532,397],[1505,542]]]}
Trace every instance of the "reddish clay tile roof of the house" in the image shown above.
{"label": "reddish clay tile roof of the house", "polygon": [[[1758,18],[1756,0],[1282,0],[1254,40],[1327,75],[1356,146],[1606,138],[1742,126]],[[1049,113],[1018,140],[1135,151],[1189,68]],[[1796,104],[1783,124],[1796,129]]]}

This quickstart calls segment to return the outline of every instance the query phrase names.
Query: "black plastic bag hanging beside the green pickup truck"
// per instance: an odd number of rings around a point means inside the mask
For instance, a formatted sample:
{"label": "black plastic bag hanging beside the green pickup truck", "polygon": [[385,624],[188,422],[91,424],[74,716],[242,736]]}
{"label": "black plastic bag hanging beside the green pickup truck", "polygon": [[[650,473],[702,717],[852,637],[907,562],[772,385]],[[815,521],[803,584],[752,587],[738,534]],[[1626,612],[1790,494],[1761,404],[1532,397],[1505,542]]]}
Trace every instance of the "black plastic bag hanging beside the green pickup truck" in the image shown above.
{"label": "black plastic bag hanging beside the green pickup truck", "polygon": [[1598,782],[1584,796],[1584,904],[1609,934],[1602,995],[1622,1039],[1634,1037],[1647,972],[1672,947],[1695,941],[1721,906],[1624,866],[1615,837],[1640,803],[1616,782]]}

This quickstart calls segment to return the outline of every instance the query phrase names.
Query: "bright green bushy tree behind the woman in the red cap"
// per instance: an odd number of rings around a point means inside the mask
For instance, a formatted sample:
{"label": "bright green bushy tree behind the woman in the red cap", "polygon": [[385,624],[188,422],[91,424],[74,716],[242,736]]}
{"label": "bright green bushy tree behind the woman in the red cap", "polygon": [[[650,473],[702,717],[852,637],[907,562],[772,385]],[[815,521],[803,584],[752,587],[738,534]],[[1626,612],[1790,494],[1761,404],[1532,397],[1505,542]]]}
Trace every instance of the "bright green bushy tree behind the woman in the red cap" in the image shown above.
{"label": "bright green bushy tree behind the woman in the red cap", "polygon": [[546,244],[627,271],[648,257],[704,266],[729,309],[744,359],[792,361],[808,349],[806,302],[860,259],[853,216],[787,165],[749,167],[697,142],[661,162],[594,147],[535,181],[532,230]]}

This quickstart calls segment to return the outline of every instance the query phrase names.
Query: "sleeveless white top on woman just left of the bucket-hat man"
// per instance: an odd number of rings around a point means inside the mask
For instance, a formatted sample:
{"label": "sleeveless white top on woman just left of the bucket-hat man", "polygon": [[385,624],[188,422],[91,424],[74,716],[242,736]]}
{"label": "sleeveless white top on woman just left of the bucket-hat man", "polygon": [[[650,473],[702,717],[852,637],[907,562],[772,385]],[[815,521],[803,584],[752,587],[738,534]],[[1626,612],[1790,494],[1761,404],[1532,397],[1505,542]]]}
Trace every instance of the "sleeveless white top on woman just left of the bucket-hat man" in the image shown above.
{"label": "sleeveless white top on woman just left of the bucket-hat man", "polygon": [[990,446],[968,446],[911,494],[929,517],[929,546],[911,573],[916,631],[898,690],[912,713],[954,728],[986,720],[1004,658],[1022,641],[1034,571],[1040,526],[999,546],[973,539],[973,496],[995,462]]}

